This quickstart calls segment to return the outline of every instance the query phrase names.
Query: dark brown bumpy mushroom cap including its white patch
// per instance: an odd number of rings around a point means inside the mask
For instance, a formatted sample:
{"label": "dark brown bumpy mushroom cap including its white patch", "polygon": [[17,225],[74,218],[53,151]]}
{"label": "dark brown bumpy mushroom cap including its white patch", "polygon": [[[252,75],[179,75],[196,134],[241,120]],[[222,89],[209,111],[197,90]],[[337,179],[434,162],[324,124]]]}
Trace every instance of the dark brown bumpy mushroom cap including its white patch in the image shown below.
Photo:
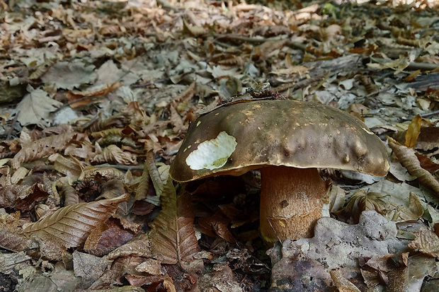
{"label": "dark brown bumpy mushroom cap including its white patch", "polygon": [[346,112],[296,100],[219,107],[189,128],[171,165],[173,180],[242,175],[266,165],[336,168],[384,176],[382,141]]}

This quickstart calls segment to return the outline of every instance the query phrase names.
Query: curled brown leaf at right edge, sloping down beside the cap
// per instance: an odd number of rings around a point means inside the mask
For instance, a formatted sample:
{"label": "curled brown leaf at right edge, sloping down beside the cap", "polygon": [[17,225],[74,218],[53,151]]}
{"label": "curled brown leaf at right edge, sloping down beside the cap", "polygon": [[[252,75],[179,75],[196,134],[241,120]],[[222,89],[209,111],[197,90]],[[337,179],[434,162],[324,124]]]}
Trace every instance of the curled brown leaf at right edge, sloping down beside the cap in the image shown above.
{"label": "curled brown leaf at right edge, sloping down beside the cap", "polygon": [[421,182],[421,184],[433,189],[436,196],[439,197],[439,182],[435,180],[435,177],[433,177],[428,170],[421,168],[421,163],[419,163],[414,149],[402,146],[390,137],[389,146],[392,148],[399,162],[404,166],[404,168],[409,170],[411,175],[418,177],[418,180]]}

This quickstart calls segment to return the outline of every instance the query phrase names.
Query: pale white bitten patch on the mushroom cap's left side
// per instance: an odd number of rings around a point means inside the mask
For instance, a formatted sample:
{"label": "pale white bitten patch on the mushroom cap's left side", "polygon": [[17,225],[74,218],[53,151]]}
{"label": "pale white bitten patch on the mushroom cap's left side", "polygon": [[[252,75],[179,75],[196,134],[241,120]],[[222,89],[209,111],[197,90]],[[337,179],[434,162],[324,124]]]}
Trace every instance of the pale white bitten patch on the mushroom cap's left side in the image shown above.
{"label": "pale white bitten patch on the mushroom cap's left side", "polygon": [[238,144],[234,136],[221,132],[217,138],[198,145],[198,148],[188,155],[186,163],[193,170],[222,168],[235,151],[236,145]]}

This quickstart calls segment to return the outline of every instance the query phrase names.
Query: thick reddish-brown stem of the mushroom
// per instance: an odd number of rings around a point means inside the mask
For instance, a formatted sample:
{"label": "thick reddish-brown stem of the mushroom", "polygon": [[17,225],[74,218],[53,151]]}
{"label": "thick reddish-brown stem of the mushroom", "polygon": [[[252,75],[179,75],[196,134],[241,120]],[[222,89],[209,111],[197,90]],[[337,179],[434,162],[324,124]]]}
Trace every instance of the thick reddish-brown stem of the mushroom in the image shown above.
{"label": "thick reddish-brown stem of the mushroom", "polygon": [[266,243],[311,238],[329,194],[317,168],[261,168],[261,236]]}

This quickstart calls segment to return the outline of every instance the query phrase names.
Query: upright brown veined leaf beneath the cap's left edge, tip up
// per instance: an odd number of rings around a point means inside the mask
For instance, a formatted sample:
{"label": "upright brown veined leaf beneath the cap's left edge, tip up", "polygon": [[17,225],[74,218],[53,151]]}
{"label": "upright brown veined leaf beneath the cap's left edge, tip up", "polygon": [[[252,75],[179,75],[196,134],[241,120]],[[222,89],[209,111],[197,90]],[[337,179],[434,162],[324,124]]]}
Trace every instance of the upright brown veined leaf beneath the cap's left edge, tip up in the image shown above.
{"label": "upright brown veined leaf beneath the cap's left edge, tip up", "polygon": [[177,197],[172,180],[169,179],[161,194],[161,212],[150,226],[151,250],[161,254],[164,264],[191,262],[200,250],[193,228],[193,211],[187,193]]}

